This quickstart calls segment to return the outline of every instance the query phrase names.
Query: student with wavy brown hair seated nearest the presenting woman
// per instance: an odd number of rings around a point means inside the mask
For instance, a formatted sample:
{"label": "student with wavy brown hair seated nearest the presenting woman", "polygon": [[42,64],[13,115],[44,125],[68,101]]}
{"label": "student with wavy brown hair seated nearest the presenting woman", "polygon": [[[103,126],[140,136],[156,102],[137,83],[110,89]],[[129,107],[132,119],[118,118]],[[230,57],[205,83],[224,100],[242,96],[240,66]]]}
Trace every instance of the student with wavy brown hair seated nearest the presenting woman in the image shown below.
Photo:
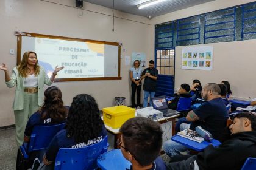
{"label": "student with wavy brown hair seated nearest the presenting woman", "polygon": [[68,106],[63,105],[62,92],[58,87],[51,86],[44,91],[44,104],[27,121],[24,142],[29,142],[33,127],[38,125],[59,124],[66,121]]}

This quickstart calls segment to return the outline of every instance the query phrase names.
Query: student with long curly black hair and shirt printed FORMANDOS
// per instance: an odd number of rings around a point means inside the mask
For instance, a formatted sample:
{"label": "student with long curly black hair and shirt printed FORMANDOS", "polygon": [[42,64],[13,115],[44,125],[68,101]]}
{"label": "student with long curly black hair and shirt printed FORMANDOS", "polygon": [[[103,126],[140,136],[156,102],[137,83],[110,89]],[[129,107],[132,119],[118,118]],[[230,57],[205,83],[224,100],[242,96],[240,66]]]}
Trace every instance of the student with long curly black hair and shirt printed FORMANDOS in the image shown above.
{"label": "student with long curly black hair and shirt printed FORMANDOS", "polygon": [[95,99],[87,94],[77,95],[68,112],[66,129],[58,132],[52,139],[39,169],[54,169],[54,161],[60,148],[82,148],[98,143],[106,135]]}

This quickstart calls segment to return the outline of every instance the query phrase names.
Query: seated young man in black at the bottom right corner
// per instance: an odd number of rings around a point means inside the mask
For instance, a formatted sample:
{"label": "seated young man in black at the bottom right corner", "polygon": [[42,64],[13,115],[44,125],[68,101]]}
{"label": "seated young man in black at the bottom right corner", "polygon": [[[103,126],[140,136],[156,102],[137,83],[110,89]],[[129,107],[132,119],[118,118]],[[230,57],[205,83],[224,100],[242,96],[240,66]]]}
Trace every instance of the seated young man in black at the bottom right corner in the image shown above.
{"label": "seated young man in black at the bottom right corner", "polygon": [[230,139],[218,147],[207,146],[187,160],[168,163],[168,169],[241,169],[248,157],[256,157],[256,114],[236,114],[230,125]]}

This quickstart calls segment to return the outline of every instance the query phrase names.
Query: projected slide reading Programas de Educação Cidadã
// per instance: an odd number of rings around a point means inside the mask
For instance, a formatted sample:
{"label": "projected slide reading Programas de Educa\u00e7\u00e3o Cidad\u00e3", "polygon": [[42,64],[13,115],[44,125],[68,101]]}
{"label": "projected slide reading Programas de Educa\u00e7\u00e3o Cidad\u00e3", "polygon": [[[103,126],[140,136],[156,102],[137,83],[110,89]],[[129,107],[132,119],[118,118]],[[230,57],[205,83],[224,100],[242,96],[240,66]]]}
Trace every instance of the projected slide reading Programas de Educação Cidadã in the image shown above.
{"label": "projected slide reading Programas de Educa\u00e7\u00e3o Cidad\u00e3", "polygon": [[49,77],[55,66],[65,67],[57,78],[104,77],[104,44],[37,37],[34,47]]}

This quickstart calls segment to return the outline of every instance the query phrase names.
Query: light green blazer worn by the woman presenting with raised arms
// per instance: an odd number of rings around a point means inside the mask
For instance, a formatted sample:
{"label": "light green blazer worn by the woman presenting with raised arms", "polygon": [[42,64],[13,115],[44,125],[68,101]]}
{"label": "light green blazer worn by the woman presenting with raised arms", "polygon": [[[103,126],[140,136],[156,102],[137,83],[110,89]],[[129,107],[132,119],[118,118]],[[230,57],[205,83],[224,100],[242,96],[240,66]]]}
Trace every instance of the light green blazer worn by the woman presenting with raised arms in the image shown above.
{"label": "light green blazer worn by the woman presenting with raised arms", "polygon": [[[43,94],[44,84],[50,86],[53,82],[50,80],[48,75],[45,73],[44,68],[40,66],[40,71],[38,77],[38,106],[43,105]],[[13,110],[23,110],[24,109],[24,82],[25,78],[19,75],[17,67],[12,70],[11,80],[5,82],[7,87],[12,88],[16,85],[15,98],[13,101]]]}

